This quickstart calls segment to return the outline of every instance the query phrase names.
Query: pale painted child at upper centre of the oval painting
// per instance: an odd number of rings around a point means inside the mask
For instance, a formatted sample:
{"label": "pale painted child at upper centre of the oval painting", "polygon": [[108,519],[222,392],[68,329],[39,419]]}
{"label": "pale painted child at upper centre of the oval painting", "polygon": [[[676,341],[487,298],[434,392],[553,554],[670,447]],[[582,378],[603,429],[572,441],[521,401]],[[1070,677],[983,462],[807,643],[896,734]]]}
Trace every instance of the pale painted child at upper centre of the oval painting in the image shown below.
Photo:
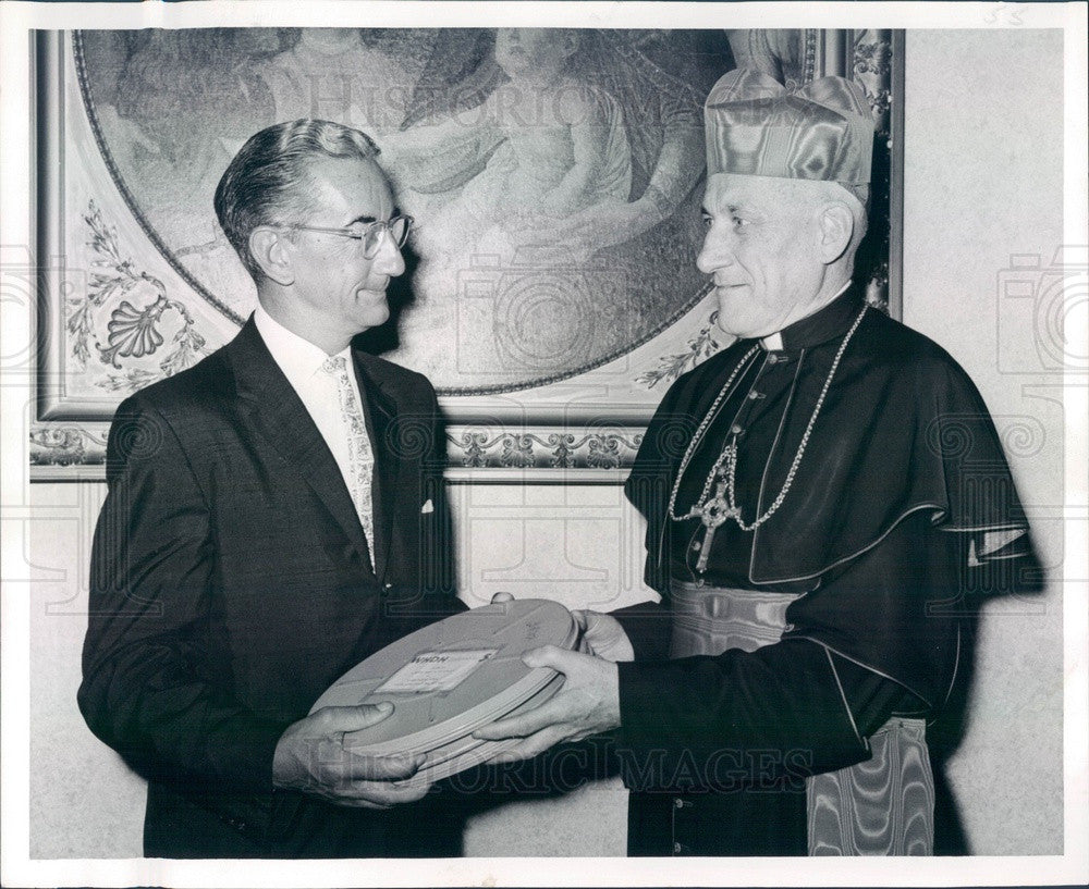
{"label": "pale painted child at upper centre of the oval painting", "polygon": [[387,140],[394,175],[420,196],[403,200],[430,202],[421,245],[443,267],[463,264],[466,250],[510,262],[535,230],[627,200],[623,113],[571,74],[580,40],[572,29],[500,28],[493,59],[505,83],[477,108]]}

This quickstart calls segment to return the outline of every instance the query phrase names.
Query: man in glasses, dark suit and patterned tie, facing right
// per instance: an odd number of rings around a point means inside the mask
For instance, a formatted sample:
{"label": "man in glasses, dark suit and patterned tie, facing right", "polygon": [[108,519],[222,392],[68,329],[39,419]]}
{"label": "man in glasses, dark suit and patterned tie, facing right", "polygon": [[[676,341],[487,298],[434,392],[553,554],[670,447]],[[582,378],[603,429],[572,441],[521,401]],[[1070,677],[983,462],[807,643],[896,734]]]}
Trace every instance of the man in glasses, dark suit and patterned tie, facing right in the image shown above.
{"label": "man in glasses, dark suit and patterned tie, facing right", "polygon": [[313,120],[246,143],[216,212],[259,307],[110,430],[78,700],[148,779],[149,856],[431,851],[426,789],[396,783],[419,763],[352,752],[390,708],[307,716],[354,664],[464,607],[435,392],[350,345],[387,320],[411,226],[377,153]]}

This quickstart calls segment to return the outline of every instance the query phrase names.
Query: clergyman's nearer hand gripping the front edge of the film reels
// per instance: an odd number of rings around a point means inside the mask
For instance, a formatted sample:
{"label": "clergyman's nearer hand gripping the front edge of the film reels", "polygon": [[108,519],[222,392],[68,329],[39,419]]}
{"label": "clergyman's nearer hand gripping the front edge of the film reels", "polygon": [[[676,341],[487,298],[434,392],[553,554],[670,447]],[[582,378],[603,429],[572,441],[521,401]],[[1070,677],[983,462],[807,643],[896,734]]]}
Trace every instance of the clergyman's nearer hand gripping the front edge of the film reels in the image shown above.
{"label": "clergyman's nearer hand gripping the front edge of the film reels", "polygon": [[554,645],[534,649],[522,659],[528,667],[552,667],[566,681],[539,707],[473,732],[474,738],[487,741],[525,739],[493,762],[528,760],[561,741],[580,741],[620,725],[615,664]]}

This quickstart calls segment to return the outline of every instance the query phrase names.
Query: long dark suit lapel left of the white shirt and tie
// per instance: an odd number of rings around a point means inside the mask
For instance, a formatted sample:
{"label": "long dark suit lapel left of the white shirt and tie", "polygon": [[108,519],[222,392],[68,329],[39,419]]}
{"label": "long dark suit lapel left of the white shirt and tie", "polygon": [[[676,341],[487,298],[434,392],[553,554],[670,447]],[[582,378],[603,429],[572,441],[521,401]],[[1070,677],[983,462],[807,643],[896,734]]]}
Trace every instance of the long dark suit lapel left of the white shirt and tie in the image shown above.
{"label": "long dark suit lapel left of the white shirt and tie", "polygon": [[[366,560],[363,527],[337,460],[306,406],[269,353],[253,318],[227,348],[238,396],[248,406],[255,425],[306,480]],[[378,462],[376,455],[376,465]]]}

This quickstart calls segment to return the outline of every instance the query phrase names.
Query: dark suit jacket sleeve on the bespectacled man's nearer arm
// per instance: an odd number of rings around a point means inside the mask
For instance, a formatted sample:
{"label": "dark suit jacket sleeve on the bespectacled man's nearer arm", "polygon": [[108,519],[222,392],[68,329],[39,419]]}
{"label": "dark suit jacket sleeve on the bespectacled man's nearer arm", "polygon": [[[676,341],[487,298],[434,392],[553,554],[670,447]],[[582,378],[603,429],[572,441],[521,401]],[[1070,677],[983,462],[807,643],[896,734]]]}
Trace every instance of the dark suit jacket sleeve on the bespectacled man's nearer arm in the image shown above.
{"label": "dark suit jacket sleeve on the bespectacled man's nearer arm", "polygon": [[121,406],[107,480],[91,551],[84,718],[144,777],[186,791],[213,787],[201,794],[208,801],[256,801],[267,811],[286,725],[241,706],[208,662],[209,510],[160,412],[135,399]]}

